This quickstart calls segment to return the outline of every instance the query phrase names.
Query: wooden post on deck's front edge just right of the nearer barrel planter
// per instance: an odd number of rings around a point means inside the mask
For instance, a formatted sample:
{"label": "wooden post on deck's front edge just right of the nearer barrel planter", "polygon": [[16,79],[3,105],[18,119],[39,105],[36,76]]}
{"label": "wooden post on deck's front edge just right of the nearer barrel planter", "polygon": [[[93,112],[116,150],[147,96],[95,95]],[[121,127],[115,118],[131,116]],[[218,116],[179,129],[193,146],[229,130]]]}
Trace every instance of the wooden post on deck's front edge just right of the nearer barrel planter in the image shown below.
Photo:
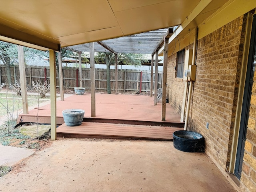
{"label": "wooden post on deck's front edge just right of the nearer barrel planter", "polygon": [[91,116],[96,116],[96,100],[95,100],[95,68],[94,68],[94,44],[89,44],[90,47],[90,75],[91,75]]}

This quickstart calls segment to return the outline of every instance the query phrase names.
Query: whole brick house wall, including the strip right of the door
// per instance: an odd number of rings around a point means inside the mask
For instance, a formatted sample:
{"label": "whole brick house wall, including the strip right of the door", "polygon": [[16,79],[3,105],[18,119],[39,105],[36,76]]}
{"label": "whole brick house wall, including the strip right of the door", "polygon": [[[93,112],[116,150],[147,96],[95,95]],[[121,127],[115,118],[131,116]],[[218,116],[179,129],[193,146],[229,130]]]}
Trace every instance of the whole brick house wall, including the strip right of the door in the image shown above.
{"label": "whole brick house wall, including the strip right of the door", "polygon": [[[232,185],[242,192],[256,192],[256,74],[252,86],[250,112],[243,153],[241,177],[233,176],[232,153],[237,111],[241,104],[239,91],[243,69],[248,15],[239,16],[210,34],[197,40],[196,81],[192,86],[188,130],[201,133],[205,138],[205,152]],[[250,24],[250,23],[249,23]],[[200,34],[200,26],[198,34]],[[248,32],[250,34],[251,31]],[[180,37],[181,38],[181,37]],[[184,37],[185,38],[185,37]],[[168,56],[167,98],[170,105],[181,113],[184,80],[177,78],[177,52],[192,49],[193,43],[184,44]],[[209,128],[206,128],[206,123]],[[233,150],[233,152],[232,152]],[[234,163],[234,160],[233,160]]]}

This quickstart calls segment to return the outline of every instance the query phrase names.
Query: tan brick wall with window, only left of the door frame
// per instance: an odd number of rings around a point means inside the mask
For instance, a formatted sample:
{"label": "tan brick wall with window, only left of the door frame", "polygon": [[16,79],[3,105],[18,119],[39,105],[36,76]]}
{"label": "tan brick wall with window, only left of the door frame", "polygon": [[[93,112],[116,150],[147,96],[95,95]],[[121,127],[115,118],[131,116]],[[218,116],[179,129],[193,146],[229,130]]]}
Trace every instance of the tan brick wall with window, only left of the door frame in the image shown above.
{"label": "tan brick wall with window, only left of the door frame", "polygon": [[[206,153],[222,170],[226,170],[230,161],[245,26],[246,17],[241,16],[198,40],[188,130],[205,137]],[[185,50],[188,48],[192,45]],[[168,97],[180,112],[184,82],[174,78],[175,65],[176,54],[173,54],[168,60]]]}

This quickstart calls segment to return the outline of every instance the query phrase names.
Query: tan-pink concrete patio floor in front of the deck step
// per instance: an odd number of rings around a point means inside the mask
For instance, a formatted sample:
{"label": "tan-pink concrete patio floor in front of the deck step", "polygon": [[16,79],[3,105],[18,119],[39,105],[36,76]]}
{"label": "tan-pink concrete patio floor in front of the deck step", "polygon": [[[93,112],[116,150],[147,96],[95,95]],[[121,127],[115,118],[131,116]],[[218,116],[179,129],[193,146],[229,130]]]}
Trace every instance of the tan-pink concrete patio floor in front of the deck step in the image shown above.
{"label": "tan-pink concrete patio floor in front of the deck step", "polygon": [[0,178],[0,192],[231,192],[204,153],[173,142],[58,138]]}

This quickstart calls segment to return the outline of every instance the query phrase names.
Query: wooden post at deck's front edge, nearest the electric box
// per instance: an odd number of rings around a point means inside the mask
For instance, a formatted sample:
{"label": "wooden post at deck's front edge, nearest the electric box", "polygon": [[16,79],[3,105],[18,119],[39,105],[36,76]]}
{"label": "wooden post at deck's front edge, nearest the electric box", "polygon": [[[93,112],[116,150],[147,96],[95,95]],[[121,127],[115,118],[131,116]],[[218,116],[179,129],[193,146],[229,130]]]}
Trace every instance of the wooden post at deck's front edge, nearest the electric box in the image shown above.
{"label": "wooden post at deck's front edge, nearest the electric box", "polygon": [[164,63],[163,63],[163,72],[162,72],[162,121],[165,121],[165,116],[166,116],[168,42],[169,42],[169,38],[165,38],[164,39]]}

